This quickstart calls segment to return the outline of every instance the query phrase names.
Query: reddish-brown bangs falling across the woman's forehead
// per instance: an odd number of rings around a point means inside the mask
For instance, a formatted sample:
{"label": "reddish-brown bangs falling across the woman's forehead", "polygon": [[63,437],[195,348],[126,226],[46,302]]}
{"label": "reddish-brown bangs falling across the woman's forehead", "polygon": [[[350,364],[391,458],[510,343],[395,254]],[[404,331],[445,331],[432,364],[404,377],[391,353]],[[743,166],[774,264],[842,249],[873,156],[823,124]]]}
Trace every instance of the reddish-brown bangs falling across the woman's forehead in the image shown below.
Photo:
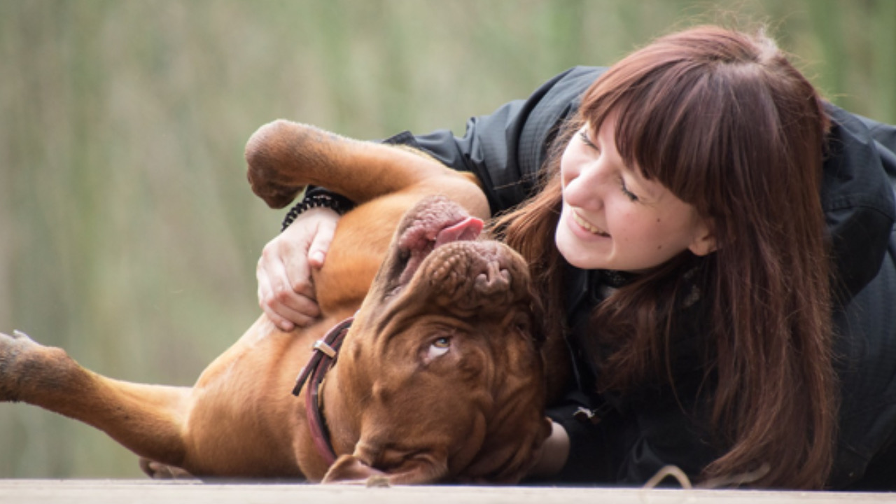
{"label": "reddish-brown bangs falling across the woman's forehead", "polygon": [[709,213],[706,184],[717,178],[711,156],[719,151],[711,139],[718,138],[725,90],[688,60],[658,60],[648,71],[643,61],[633,61],[632,71],[625,63],[585,97],[582,119],[597,129],[615,117],[616,149],[625,165]]}

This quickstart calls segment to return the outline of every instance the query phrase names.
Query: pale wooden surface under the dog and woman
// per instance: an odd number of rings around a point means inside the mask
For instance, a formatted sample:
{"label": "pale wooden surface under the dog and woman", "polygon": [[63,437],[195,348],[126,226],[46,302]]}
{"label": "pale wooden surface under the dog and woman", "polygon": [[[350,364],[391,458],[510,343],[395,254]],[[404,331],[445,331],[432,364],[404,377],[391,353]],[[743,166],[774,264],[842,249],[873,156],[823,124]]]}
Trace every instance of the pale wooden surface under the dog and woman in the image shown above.
{"label": "pale wooden surface under the dog and woman", "polygon": [[0,480],[0,502],[37,504],[73,502],[121,504],[196,502],[213,504],[356,503],[441,504],[845,504],[896,502],[894,493],[802,491],[707,491],[679,489],[609,489],[557,487],[417,486],[364,488],[313,484],[209,484],[143,480]]}

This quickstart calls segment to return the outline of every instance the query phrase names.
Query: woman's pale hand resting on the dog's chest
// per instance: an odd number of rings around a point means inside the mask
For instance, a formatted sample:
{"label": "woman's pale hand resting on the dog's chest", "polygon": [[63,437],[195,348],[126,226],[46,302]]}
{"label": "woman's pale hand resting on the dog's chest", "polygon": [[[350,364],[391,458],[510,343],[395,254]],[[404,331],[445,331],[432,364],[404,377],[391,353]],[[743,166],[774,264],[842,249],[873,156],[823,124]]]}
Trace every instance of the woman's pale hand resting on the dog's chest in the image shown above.
{"label": "woman's pale hand resting on the dog's chest", "polygon": [[312,208],[264,246],[258,259],[258,304],[284,331],[303,327],[321,314],[312,268],[320,269],[340,215]]}

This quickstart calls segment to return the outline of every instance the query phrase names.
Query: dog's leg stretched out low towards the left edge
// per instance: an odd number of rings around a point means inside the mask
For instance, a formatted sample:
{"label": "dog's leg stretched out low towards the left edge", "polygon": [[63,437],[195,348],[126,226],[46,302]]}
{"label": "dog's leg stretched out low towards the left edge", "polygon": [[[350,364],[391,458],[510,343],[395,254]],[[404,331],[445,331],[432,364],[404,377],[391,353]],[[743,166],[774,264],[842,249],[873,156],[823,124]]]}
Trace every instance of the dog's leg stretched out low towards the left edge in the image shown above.
{"label": "dog's leg stretched out low towards the left edge", "polygon": [[0,401],[34,404],[103,430],[139,456],[167,465],[185,457],[188,387],[141,385],[82,368],[62,349],[0,333]]}

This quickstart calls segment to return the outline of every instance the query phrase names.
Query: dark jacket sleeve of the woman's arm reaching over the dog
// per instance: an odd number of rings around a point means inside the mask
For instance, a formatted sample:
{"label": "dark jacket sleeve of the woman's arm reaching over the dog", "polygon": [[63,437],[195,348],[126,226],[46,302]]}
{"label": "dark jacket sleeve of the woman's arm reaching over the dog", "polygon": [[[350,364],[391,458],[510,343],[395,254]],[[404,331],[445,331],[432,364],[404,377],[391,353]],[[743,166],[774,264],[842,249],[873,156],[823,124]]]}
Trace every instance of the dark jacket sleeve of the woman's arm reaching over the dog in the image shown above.
{"label": "dark jacket sleeve of the woman's arm reaching over the dog", "polygon": [[567,70],[526,100],[514,100],[490,115],[470,118],[461,137],[448,130],[428,135],[403,132],[386,142],[417,147],[453,169],[475,173],[492,213],[496,213],[530,196],[558,126],[578,109],[582,92],[602,72],[585,66]]}

